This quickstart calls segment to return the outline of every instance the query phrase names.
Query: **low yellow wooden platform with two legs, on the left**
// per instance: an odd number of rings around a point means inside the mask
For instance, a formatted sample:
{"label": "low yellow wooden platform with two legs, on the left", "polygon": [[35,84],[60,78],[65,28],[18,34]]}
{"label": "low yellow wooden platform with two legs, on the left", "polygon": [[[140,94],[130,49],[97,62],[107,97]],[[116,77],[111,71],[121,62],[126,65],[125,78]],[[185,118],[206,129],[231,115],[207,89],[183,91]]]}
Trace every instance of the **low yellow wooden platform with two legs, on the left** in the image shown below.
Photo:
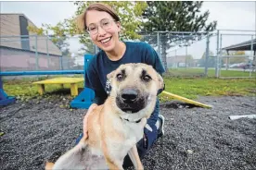
{"label": "low yellow wooden platform with two legs, on the left", "polygon": [[60,84],[61,87],[64,87],[64,84],[70,84],[70,93],[72,96],[78,95],[78,86],[77,83],[84,81],[83,78],[54,78],[54,79],[45,79],[42,81],[36,81],[32,84],[37,84],[38,92],[43,95],[45,92],[45,84]]}

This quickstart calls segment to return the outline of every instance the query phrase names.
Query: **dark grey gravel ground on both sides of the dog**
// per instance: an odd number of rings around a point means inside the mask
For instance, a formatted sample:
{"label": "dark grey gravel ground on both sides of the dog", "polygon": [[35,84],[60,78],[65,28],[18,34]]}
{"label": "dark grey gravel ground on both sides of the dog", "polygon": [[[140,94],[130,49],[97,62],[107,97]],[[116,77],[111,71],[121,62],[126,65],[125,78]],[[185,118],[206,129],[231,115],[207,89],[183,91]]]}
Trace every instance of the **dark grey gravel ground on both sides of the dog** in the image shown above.
{"label": "dark grey gravel ground on both sides of the dog", "polygon": [[[147,170],[256,169],[256,119],[228,115],[256,114],[255,97],[200,97],[212,109],[173,101],[161,103],[165,135],[142,160]],[[58,100],[14,103],[0,108],[0,169],[44,169],[45,160],[74,146],[86,110],[61,108]]]}

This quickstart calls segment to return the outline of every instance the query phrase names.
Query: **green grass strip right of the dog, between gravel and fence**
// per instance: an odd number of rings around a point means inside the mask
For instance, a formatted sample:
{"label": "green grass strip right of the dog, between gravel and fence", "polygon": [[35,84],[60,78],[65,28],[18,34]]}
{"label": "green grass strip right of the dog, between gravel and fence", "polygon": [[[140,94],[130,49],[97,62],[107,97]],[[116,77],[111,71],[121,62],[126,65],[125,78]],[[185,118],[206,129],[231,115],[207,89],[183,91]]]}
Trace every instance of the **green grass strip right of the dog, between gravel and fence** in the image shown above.
{"label": "green grass strip right of the dog, between gravel and fence", "polygon": [[[197,99],[198,96],[253,96],[256,92],[256,79],[178,79],[165,78],[165,91]],[[162,101],[170,100],[160,95]]]}

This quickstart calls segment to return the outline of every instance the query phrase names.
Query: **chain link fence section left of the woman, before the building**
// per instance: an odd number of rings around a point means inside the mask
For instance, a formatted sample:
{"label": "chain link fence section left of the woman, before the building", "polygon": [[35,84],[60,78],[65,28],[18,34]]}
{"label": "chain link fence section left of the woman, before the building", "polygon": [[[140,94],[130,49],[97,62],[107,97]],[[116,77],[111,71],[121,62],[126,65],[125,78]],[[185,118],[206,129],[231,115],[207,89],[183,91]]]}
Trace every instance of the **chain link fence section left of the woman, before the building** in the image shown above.
{"label": "chain link fence section left of the woman, before the building", "polygon": [[79,36],[1,36],[0,70],[83,69],[85,53],[86,48],[79,42]]}

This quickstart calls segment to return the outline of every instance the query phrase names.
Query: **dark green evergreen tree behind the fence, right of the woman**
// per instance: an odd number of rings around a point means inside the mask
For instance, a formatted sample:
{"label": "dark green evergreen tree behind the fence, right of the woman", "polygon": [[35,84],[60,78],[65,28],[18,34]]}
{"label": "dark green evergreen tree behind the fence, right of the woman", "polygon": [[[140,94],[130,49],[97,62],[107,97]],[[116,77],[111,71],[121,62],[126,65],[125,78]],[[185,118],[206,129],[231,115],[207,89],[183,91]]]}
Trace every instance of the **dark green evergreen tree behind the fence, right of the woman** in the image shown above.
{"label": "dark green evergreen tree behind the fence, right of the woman", "polygon": [[[172,42],[179,41],[180,45],[185,44],[186,46],[193,41],[201,40],[205,35],[198,32],[211,32],[216,29],[216,21],[206,23],[210,15],[209,11],[199,14],[202,3],[197,1],[147,1],[147,9],[143,13],[143,18],[146,21],[141,26],[143,32],[149,34],[154,31],[197,32],[194,34],[195,36],[184,33],[183,37],[168,32],[160,33],[160,54],[166,71],[168,71],[166,50],[176,45]],[[150,38],[147,41],[157,45],[156,41],[152,41]]]}

